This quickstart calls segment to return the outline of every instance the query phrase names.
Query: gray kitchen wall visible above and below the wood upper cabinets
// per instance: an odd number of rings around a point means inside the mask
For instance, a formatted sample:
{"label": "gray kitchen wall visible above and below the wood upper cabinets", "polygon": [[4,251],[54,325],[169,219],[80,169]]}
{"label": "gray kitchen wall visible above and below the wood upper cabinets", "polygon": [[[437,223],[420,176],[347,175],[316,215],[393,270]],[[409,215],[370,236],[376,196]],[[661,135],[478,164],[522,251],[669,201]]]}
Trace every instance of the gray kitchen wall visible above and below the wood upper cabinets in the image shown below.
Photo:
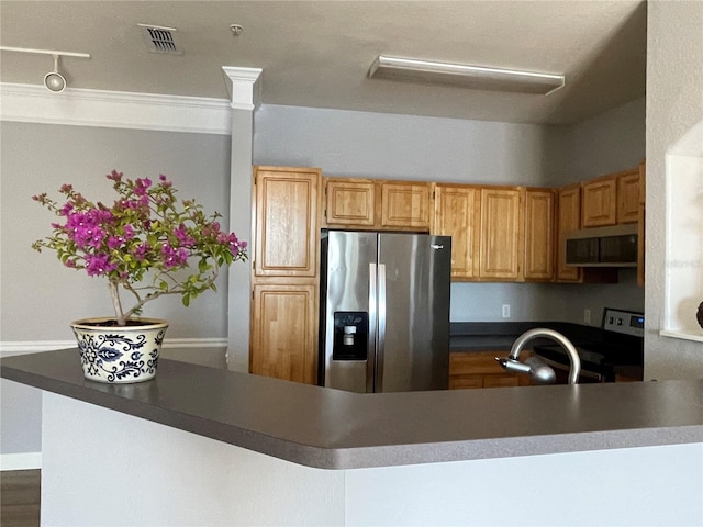
{"label": "gray kitchen wall visible above and below the wood upper cabinets", "polygon": [[[256,164],[321,167],[326,176],[548,187],[645,157],[644,99],[571,127],[275,105],[260,108],[255,123]],[[510,304],[513,321],[582,323],[589,309],[598,326],[604,307],[644,309],[628,272],[609,285],[454,283],[451,295],[453,322],[503,321]]]}

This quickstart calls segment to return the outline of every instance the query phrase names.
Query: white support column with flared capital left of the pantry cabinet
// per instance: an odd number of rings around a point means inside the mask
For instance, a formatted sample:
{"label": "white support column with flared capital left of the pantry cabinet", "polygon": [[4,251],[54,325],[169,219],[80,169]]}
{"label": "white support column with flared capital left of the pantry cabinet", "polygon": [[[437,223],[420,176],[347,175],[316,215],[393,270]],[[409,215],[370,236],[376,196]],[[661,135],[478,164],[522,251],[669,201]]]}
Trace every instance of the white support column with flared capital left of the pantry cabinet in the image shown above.
{"label": "white support column with flared capital left of the pantry cabinet", "polygon": [[[232,152],[230,176],[230,231],[249,244],[254,254],[252,225],[252,165],[254,147],[254,111],[258,103],[261,75],[259,68],[223,66],[225,82],[232,100]],[[235,262],[230,267],[227,285],[228,347],[227,366],[231,370],[249,369],[249,302],[252,290],[252,261]]]}

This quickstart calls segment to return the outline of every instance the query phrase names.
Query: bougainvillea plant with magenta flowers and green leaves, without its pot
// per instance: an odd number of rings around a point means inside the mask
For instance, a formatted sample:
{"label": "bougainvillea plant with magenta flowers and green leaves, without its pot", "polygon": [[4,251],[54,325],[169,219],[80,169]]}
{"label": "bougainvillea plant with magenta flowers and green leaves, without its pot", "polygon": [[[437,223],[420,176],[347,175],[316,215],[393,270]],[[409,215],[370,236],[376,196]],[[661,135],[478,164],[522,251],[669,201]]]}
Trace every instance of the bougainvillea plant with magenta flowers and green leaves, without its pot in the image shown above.
{"label": "bougainvillea plant with magenta flowers and green leaves, without its pot", "polygon": [[[221,215],[207,215],[193,200],[179,202],[166,176],[156,184],[116,170],[107,178],[118,193],[111,206],[88,201],[70,184],[59,189],[65,203],[45,193],[32,197],[62,218],[32,247],[53,249],[64,266],[107,278],[118,325],[166,294],[180,295],[188,306],[215,290],[222,266],[247,259],[246,242],[221,229]],[[123,309],[121,292],[132,298],[130,309]]]}

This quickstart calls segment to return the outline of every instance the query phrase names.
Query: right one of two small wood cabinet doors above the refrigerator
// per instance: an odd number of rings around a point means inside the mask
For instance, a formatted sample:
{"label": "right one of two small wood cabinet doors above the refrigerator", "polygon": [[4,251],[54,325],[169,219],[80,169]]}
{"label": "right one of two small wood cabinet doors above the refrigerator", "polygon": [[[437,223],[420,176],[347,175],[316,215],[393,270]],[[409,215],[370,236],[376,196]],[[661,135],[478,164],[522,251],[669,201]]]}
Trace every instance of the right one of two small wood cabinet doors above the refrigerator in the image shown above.
{"label": "right one of two small wood cabinet doors above the refrigerator", "polygon": [[429,232],[429,183],[382,181],[381,228]]}

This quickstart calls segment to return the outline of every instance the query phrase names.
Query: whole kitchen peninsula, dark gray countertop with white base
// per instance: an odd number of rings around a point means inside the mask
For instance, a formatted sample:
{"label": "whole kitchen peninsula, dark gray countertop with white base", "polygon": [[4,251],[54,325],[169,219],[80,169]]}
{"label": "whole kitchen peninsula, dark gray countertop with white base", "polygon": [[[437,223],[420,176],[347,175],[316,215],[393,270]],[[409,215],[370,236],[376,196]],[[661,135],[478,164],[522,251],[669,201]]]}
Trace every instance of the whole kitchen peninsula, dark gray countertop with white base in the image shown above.
{"label": "whole kitchen peninsula, dark gray countertop with white base", "polygon": [[43,390],[45,525],[703,520],[703,381],[355,394],[164,359],[107,385],[76,349],[1,373]]}

